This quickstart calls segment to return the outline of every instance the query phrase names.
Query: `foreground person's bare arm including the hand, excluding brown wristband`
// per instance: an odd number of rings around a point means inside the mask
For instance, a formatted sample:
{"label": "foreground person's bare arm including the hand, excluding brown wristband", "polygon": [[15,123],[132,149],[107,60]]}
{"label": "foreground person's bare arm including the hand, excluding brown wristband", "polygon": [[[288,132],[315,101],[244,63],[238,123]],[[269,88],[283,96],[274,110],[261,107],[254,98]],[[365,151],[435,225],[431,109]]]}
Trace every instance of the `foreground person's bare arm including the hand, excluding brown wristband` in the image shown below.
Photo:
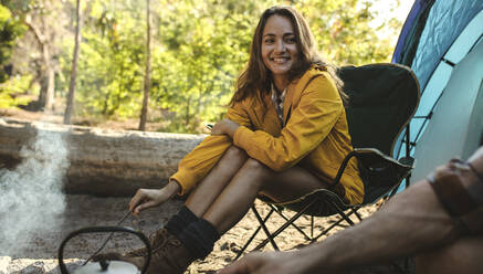
{"label": "foreground person's bare arm including the hand, excluding brown wristband", "polygon": [[[469,161],[482,172],[483,147]],[[474,173],[465,175],[465,180],[479,180]],[[454,219],[424,180],[393,197],[358,225],[321,243],[295,252],[252,253],[220,273],[340,273],[416,255],[451,243],[460,234]]]}

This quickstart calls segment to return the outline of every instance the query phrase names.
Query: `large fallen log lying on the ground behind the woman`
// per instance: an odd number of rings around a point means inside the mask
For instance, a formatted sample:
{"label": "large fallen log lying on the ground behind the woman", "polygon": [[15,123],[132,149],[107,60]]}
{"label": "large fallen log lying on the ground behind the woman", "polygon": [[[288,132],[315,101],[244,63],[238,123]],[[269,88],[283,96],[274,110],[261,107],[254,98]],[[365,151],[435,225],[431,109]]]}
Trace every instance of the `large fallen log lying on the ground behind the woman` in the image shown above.
{"label": "large fallen log lying on the ground behind the woman", "polygon": [[112,130],[3,117],[0,118],[0,168],[12,170],[24,160],[22,147],[32,144],[39,131],[63,135],[70,161],[64,179],[66,193],[109,197],[132,196],[138,188],[165,186],[181,158],[204,138],[204,135]]}

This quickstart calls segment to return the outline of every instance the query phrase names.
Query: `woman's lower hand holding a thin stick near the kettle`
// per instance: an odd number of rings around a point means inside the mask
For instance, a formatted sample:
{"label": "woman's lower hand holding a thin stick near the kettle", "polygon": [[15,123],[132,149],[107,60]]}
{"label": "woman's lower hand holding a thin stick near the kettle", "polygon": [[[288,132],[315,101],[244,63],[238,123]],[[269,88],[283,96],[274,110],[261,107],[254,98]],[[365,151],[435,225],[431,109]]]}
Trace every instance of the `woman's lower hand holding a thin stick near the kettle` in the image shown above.
{"label": "woman's lower hand holding a thin stick near the kettle", "polygon": [[157,207],[166,202],[178,193],[180,188],[181,187],[175,181],[169,182],[161,189],[138,189],[133,199],[130,199],[129,210],[137,215],[145,209]]}

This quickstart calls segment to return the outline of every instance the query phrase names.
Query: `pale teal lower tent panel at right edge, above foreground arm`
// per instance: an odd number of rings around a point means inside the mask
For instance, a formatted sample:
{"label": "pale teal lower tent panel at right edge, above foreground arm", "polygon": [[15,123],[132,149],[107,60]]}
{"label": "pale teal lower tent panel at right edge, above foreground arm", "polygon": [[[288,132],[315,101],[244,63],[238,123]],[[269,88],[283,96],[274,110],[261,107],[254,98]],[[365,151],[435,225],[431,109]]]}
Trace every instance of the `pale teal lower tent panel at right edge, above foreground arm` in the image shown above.
{"label": "pale teal lower tent panel at right edge, above foreground arm", "polygon": [[480,43],[454,66],[414,149],[414,181],[423,179],[452,157],[466,159],[476,150],[483,133],[482,61],[483,43]]}

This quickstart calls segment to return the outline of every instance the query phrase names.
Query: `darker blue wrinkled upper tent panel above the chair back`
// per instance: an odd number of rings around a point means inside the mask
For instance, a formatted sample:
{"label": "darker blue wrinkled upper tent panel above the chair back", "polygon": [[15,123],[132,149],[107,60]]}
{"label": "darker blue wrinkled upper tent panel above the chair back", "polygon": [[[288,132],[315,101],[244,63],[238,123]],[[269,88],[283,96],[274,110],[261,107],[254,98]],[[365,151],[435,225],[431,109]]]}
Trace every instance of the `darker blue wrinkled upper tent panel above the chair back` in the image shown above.
{"label": "darker blue wrinkled upper tent panel above the chair back", "polygon": [[482,9],[482,0],[417,0],[402,28],[392,62],[410,66],[424,89],[441,57]]}

